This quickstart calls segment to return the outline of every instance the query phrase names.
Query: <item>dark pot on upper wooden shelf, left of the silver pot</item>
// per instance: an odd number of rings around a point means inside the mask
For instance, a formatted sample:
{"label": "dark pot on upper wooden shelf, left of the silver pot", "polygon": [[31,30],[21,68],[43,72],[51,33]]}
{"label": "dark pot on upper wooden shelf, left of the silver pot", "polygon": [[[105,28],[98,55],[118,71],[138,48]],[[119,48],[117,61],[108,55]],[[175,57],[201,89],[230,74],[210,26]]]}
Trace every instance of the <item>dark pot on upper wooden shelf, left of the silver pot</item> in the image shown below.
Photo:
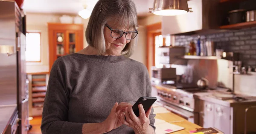
{"label": "dark pot on upper wooden shelf, left of the silver pot", "polygon": [[228,12],[229,24],[245,22],[245,9],[232,10]]}

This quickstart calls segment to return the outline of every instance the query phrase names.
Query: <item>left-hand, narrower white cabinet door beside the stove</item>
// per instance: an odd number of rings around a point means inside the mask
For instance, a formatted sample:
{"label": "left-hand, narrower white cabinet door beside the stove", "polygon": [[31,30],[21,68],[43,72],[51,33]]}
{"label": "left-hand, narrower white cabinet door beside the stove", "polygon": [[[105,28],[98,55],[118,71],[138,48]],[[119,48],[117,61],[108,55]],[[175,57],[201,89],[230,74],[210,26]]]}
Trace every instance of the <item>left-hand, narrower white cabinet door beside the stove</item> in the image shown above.
{"label": "left-hand, narrower white cabinet door beside the stove", "polygon": [[214,126],[214,104],[204,101],[203,127]]}

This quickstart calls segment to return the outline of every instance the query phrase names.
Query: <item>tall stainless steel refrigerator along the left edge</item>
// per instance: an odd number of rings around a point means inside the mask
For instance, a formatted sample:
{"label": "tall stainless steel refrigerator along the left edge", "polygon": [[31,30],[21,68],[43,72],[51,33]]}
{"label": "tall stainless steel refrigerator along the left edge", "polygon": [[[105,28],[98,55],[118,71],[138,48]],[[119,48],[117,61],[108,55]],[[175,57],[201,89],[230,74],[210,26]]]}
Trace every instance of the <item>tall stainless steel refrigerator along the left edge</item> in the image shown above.
{"label": "tall stainless steel refrigerator along the left edge", "polygon": [[17,105],[17,134],[29,130],[25,20],[15,1],[0,0],[0,106]]}

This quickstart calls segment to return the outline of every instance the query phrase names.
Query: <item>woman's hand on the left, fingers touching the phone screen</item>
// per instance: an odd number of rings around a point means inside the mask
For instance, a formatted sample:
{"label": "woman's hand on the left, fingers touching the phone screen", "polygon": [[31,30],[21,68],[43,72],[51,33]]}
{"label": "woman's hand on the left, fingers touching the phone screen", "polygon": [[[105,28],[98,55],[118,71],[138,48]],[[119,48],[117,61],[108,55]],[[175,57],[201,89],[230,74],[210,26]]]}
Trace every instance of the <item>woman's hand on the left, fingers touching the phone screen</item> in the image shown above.
{"label": "woman's hand on the left, fingers touching the phone screen", "polygon": [[102,122],[102,125],[107,132],[116,129],[123,124],[122,114],[124,113],[122,112],[122,109],[116,109],[117,106],[118,103],[116,102],[113,108],[111,109],[111,112],[108,115],[107,119]]}

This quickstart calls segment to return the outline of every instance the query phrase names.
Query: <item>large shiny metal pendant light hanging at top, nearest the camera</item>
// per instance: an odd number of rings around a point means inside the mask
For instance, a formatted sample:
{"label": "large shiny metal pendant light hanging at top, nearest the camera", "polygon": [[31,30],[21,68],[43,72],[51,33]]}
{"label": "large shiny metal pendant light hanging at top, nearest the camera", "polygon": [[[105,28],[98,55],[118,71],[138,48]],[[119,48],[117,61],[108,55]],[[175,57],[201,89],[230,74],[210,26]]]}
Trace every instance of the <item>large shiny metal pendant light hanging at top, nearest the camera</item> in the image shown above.
{"label": "large shiny metal pendant light hanging at top, nearest the camera", "polygon": [[154,0],[153,8],[149,12],[162,16],[175,16],[192,12],[187,0]]}

